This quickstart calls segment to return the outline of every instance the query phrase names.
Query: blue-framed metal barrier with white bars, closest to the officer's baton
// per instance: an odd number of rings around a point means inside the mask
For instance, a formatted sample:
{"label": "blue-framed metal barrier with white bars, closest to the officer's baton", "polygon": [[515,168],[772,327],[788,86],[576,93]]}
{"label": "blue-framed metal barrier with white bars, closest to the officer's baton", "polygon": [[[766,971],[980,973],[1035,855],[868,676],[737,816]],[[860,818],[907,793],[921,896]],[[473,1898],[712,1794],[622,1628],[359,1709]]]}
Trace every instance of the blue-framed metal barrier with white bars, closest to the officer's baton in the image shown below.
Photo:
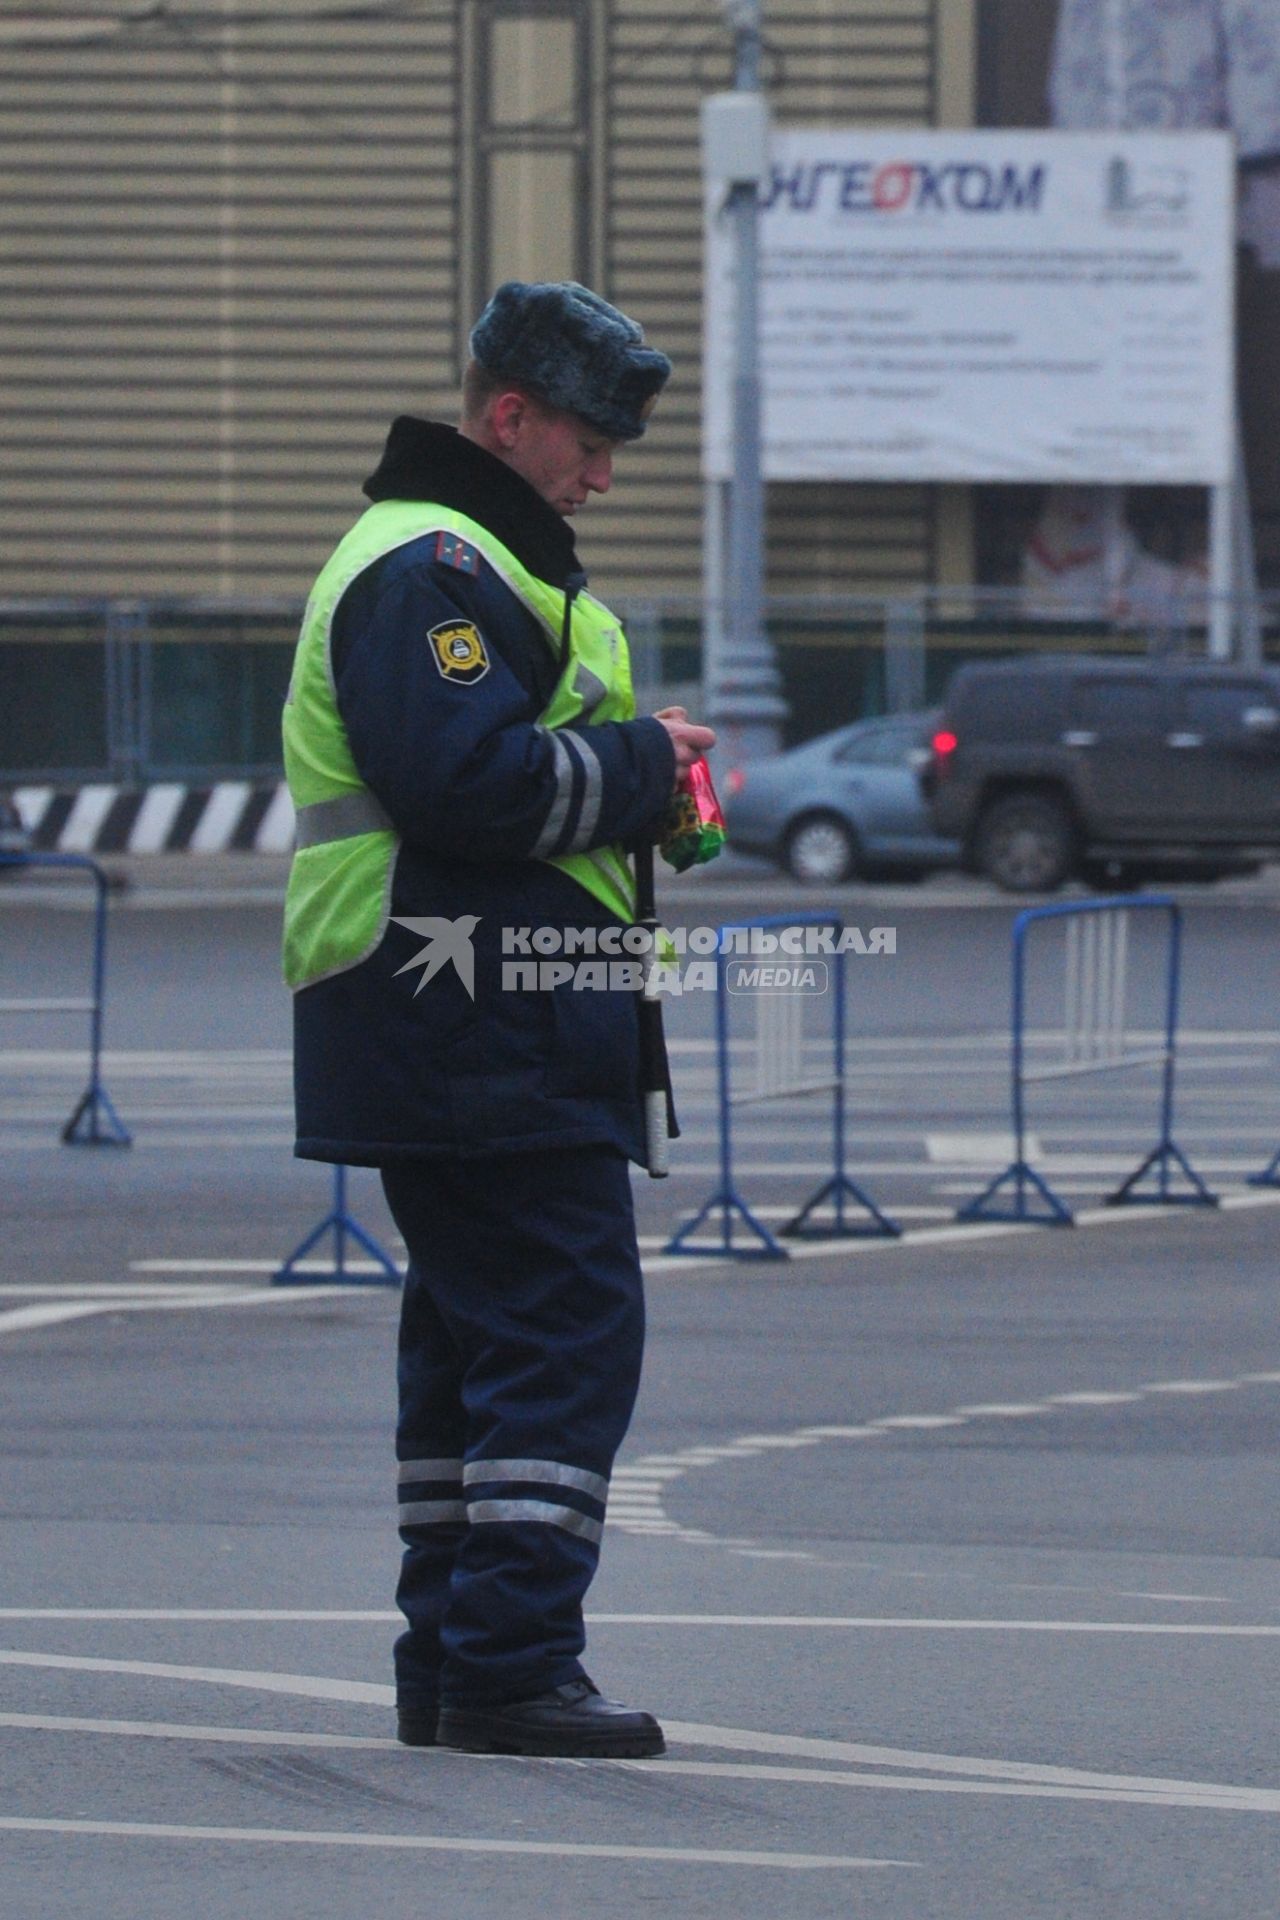
{"label": "blue-framed metal barrier with white bars, closest to the officer's baton", "polygon": [[[844,931],[841,920],[829,914],[814,914],[796,918],[794,914],[771,914],[764,920],[752,920],[745,924],[731,924],[718,927],[716,935],[716,1079],[720,1092],[720,1185],[712,1196],[699,1208],[699,1212],[685,1221],[685,1225],[672,1235],[664,1252],[668,1254],[727,1254],[735,1260],[787,1260],[787,1248],[779,1244],[777,1236],[752,1213],[750,1206],[737,1190],[733,1183],[733,1131],[731,1116],[735,1106],[758,1104],[764,1100],[793,1100],[812,1094],[831,1094],[831,1177],[804,1202],[798,1213],[781,1229],[783,1235],[810,1235],[810,1236],[854,1236],[854,1235],[890,1235],[898,1236],[902,1229],[889,1219],[875,1202],[850,1179],[844,1167],[844,954],[833,952],[821,956],[821,964],[829,966],[827,993],[808,993],[808,991],[770,991],[762,987],[747,987],[737,995],[729,987],[729,966],[741,962],[741,954],[729,954],[725,948],[731,945],[733,937],[750,935],[760,931],[768,933],[773,927],[825,927],[835,935],[835,945]],[[758,958],[758,956],[756,956]],[[771,956],[773,958],[773,956]],[[789,962],[783,952],[777,958]],[[743,1085],[743,1075],[737,1075],[739,1085],[733,1085],[731,1069],[731,1031],[729,1031],[729,1006],[739,998],[750,998],[754,1002],[756,1021],[754,1021],[754,1048],[752,1064],[754,1077],[750,1085]],[[804,1006],[808,1002],[825,1002],[831,1006],[831,1035],[829,1041],[819,1037],[819,1046],[829,1044],[829,1064],[819,1066],[812,1073],[806,1066],[806,1039],[804,1039]],[[846,1215],[846,1200],[856,1202],[867,1219],[852,1221]],[[819,1223],[816,1213],[819,1208],[831,1208],[831,1219]],[[712,1215],[720,1212],[720,1240],[697,1242],[691,1236],[699,1227]],[[733,1225],[741,1221],[754,1235],[754,1244],[735,1244]]]}

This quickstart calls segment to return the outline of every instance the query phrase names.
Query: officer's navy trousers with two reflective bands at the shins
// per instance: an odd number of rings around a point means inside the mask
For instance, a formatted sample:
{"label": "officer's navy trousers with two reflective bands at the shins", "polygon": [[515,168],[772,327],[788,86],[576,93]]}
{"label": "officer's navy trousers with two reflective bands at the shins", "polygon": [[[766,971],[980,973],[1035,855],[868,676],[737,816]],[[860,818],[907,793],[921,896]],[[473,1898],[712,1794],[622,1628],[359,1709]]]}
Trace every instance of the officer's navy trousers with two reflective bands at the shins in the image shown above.
{"label": "officer's navy trousers with two reflective bands at the shins", "polygon": [[612,1146],[382,1169],[409,1248],[399,1332],[397,1703],[581,1674],[645,1306]]}

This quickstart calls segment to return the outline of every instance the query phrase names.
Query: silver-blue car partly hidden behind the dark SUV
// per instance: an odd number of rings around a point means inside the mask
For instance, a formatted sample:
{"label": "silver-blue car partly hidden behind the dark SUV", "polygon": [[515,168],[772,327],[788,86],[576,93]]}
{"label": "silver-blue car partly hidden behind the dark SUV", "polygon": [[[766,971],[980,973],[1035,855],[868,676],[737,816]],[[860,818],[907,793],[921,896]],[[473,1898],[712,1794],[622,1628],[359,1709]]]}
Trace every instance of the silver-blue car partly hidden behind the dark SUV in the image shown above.
{"label": "silver-blue car partly hidden behind the dark SUV", "polygon": [[794,879],[915,879],[956,866],[919,791],[936,712],[858,720],[722,780],[729,847],[777,860]]}

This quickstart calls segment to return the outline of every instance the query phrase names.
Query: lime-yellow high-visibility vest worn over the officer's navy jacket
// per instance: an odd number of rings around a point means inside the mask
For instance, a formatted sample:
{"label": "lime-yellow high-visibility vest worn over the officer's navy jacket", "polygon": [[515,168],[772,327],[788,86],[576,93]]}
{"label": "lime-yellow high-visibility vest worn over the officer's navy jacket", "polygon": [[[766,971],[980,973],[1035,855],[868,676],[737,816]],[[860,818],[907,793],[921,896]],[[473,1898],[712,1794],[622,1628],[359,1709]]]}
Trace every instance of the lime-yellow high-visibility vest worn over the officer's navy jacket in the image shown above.
{"label": "lime-yellow high-visibility vest worn over the officer's navy jacket", "polygon": [[[297,849],[284,902],[284,979],[294,989],[359,966],[386,933],[399,835],[355,766],[334,695],[330,634],[338,601],[351,582],[426,534],[453,534],[476,547],[545,628],[547,643],[560,643],[566,591],[532,574],[462,513],[388,499],[361,515],[338,543],[307,601],[284,707],[284,772],[297,812]],[[618,618],[593,595],[580,593],[572,605],[568,657],[539,726],[555,730],[633,716],[631,668]],[[622,847],[557,854],[549,866],[576,879],[610,914],[635,918],[635,883]]]}

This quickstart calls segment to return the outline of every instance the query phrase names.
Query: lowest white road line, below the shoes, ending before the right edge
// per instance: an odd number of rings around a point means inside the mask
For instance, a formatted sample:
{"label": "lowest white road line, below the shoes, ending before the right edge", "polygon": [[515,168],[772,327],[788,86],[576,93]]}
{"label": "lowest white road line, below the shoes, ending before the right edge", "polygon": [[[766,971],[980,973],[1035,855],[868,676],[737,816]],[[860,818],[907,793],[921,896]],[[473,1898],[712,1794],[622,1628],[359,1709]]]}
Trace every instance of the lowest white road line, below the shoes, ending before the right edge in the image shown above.
{"label": "lowest white road line, below the shoes, ending before the right edge", "polygon": [[401,1853],[514,1853],[557,1860],[652,1860],[670,1866],[762,1866],[806,1872],[917,1866],[917,1860],[841,1853],[750,1853],[735,1847],[622,1847],[558,1839],[453,1839],[439,1834],[332,1834],[273,1826],[167,1826],[150,1820],[17,1820],[0,1818],[6,1834],[79,1834],[102,1839],[221,1841],[251,1847],[370,1847]]}

